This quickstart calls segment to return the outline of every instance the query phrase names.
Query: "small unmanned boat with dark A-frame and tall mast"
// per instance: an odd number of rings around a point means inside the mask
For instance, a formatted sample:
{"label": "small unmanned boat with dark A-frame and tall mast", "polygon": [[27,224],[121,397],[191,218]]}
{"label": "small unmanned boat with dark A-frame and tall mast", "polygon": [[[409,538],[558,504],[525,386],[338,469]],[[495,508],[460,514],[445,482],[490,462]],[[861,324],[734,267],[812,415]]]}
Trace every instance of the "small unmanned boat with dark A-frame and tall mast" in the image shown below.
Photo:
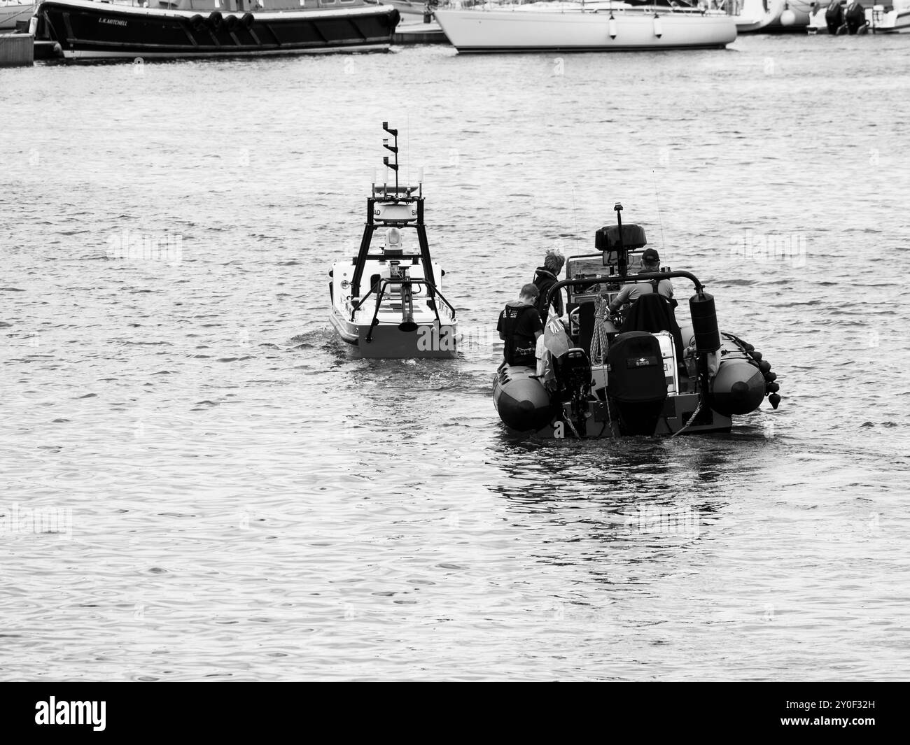
{"label": "small unmanned boat with dark A-frame and tall mast", "polygon": [[[361,357],[456,357],[455,308],[440,292],[445,272],[430,258],[423,185],[399,186],[398,130],[382,128],[395,138],[383,143],[395,154],[394,164],[383,158],[395,186],[373,184],[358,254],[329,272],[329,321]],[[402,237],[409,229],[417,247]]]}

